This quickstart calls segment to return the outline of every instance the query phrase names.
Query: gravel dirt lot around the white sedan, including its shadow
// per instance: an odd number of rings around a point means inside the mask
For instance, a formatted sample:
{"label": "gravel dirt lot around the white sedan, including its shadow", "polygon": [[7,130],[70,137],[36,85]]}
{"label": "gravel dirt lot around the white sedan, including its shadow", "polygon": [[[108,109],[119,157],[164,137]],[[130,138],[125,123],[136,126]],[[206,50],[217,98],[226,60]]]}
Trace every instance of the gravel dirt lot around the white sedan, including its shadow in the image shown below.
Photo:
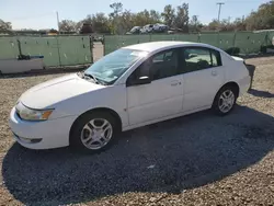
{"label": "gravel dirt lot around the white sedan, including its shadow", "polygon": [[14,144],[9,112],[22,92],[60,75],[0,79],[1,205],[273,205],[274,57],[229,116],[210,112],[123,134],[96,156]]}

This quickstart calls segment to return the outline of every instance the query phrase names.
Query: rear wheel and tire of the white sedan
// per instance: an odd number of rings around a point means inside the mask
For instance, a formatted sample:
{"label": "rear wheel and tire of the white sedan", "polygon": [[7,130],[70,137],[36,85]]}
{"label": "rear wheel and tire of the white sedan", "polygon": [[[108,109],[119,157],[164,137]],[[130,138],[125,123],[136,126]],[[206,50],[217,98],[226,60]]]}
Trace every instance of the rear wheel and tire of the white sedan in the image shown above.
{"label": "rear wheel and tire of the white sedan", "polygon": [[216,94],[212,108],[217,115],[225,116],[233,110],[237,99],[236,88],[225,85]]}

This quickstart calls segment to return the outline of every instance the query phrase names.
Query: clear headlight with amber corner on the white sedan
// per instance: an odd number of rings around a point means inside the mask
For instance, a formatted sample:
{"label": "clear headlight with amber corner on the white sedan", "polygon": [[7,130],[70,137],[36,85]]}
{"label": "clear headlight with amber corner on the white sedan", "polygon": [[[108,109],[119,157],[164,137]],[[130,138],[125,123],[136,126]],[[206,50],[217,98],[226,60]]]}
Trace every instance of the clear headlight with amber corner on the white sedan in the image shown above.
{"label": "clear headlight with amber corner on the white sedan", "polygon": [[16,113],[24,121],[46,121],[54,110],[33,110],[19,102],[15,106]]}

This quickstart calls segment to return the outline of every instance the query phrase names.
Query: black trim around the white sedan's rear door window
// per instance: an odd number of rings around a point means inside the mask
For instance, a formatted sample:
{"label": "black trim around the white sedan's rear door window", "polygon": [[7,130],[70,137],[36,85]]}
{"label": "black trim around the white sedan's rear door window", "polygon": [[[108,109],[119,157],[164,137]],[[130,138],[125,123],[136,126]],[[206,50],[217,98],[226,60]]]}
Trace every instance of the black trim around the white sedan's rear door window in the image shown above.
{"label": "black trim around the white sedan's rear door window", "polygon": [[[185,52],[185,49],[205,49],[205,50],[208,50],[209,54],[210,54],[212,67],[206,68],[206,69],[210,69],[210,68],[221,67],[221,66],[222,66],[221,55],[220,55],[220,52],[219,52],[219,50],[216,50],[216,49],[214,49],[214,48],[206,47],[206,46],[184,46],[184,47],[181,47],[181,57],[183,57],[183,58],[180,58],[180,59],[181,59],[181,62],[180,62],[181,66],[180,66],[180,68],[181,68],[181,72],[182,72],[182,73],[194,72],[194,71],[187,71],[187,72],[184,72],[184,71],[183,71],[183,67],[185,66],[185,58],[184,58],[184,52]],[[217,66],[213,66],[213,53],[216,54],[216,57],[217,57]],[[201,69],[201,70],[205,70],[205,69]],[[199,71],[199,70],[195,70],[195,71]]]}

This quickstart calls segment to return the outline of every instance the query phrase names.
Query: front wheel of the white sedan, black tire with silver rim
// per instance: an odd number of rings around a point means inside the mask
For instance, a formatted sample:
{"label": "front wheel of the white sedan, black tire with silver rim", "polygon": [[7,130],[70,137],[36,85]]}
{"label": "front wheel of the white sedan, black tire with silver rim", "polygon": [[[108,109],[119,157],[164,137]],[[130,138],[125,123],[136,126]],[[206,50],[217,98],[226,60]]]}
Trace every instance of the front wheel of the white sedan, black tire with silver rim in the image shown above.
{"label": "front wheel of the white sedan, black tire with silver rim", "polygon": [[72,125],[69,145],[84,153],[98,153],[114,144],[117,133],[117,122],[112,114],[91,111],[81,115]]}

